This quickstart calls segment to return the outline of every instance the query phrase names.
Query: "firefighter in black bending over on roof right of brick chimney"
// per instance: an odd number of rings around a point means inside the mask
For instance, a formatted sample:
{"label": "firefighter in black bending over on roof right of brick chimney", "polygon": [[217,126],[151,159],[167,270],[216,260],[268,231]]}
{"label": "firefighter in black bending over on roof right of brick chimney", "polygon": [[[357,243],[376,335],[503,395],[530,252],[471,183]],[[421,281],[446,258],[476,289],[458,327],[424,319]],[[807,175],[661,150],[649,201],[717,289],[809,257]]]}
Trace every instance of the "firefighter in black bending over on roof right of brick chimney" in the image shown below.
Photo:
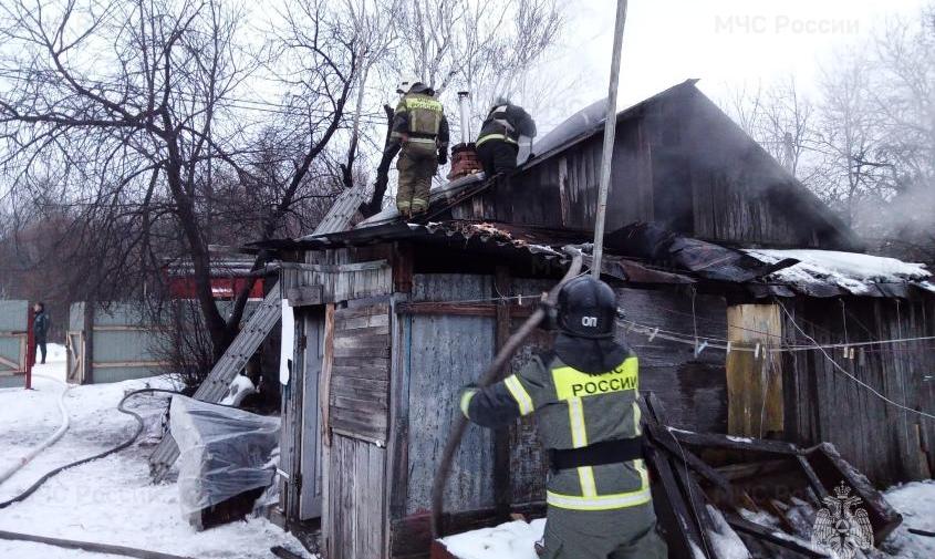
{"label": "firefighter in black bending over on roof right of brick chimney", "polygon": [[536,121],[529,113],[509,100],[498,99],[475,142],[484,174],[489,178],[516,169],[520,137],[531,143],[534,136]]}

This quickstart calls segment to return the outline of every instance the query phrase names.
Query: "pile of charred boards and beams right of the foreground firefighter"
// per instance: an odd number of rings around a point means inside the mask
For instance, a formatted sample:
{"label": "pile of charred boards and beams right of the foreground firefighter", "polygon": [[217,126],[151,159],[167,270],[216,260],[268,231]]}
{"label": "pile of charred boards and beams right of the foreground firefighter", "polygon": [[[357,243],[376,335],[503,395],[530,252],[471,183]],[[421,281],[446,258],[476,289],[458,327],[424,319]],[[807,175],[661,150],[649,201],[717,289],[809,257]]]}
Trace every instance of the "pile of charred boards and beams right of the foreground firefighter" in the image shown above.
{"label": "pile of charred boards and beams right of the foreground firefighter", "polygon": [[[860,498],[854,530],[869,520],[873,542],[902,522],[871,483],[828,443],[799,448],[781,441],[693,433],[666,426],[654,394],[643,404],[647,463],[657,482],[656,515],[669,558],[821,558],[815,518],[835,491]],[[832,495],[833,494],[833,495]],[[828,513],[823,514],[827,517]]]}

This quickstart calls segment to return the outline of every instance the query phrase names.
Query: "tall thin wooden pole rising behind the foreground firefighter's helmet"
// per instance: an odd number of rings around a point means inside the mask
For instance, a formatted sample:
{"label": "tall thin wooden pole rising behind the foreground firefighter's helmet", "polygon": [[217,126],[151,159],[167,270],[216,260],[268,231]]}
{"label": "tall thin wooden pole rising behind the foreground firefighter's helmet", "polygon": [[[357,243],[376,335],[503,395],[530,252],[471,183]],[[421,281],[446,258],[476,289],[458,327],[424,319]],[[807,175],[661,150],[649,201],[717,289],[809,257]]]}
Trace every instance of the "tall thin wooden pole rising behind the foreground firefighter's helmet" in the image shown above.
{"label": "tall thin wooden pole rising behind the foreground firefighter's helmet", "polygon": [[614,52],[611,59],[611,84],[607,87],[607,118],[604,121],[604,153],[601,156],[601,186],[598,191],[598,215],[594,218],[594,260],[591,265],[591,276],[594,279],[601,279],[601,257],[604,253],[604,220],[607,214],[607,190],[611,187],[611,163],[616,134],[616,90],[620,82],[620,58],[625,23],[626,0],[616,0]]}

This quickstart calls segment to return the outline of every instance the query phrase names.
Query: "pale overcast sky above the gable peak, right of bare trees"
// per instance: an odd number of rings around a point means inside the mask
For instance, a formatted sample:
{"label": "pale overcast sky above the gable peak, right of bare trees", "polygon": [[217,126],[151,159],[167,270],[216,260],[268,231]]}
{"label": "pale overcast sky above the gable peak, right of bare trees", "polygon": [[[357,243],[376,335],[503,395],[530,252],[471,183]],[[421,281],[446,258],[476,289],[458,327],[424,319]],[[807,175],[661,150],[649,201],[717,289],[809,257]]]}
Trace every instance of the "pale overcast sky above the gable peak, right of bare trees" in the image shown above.
{"label": "pale overcast sky above the gable peak, right of bare trees", "polygon": [[[621,106],[688,77],[715,100],[728,89],[794,74],[804,89],[835,52],[871,37],[924,0],[631,0],[623,41]],[[575,30],[562,64],[580,61],[582,101],[606,95],[616,0],[569,2]],[[581,60],[583,59],[583,60]]]}

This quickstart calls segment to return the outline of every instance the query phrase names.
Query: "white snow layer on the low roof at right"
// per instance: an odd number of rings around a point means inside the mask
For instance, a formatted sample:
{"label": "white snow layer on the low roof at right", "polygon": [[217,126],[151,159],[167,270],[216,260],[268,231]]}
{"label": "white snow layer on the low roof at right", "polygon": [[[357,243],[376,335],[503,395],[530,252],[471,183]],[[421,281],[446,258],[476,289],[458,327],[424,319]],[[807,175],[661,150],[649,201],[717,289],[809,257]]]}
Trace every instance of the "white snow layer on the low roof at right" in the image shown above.
{"label": "white snow layer on the low roof at right", "polygon": [[748,255],[765,263],[794,258],[799,263],[768,276],[769,280],[793,286],[833,283],[851,293],[865,294],[873,283],[913,282],[925,289],[932,273],[923,263],[903,262],[895,258],[840,252],[837,250],[747,249]]}

